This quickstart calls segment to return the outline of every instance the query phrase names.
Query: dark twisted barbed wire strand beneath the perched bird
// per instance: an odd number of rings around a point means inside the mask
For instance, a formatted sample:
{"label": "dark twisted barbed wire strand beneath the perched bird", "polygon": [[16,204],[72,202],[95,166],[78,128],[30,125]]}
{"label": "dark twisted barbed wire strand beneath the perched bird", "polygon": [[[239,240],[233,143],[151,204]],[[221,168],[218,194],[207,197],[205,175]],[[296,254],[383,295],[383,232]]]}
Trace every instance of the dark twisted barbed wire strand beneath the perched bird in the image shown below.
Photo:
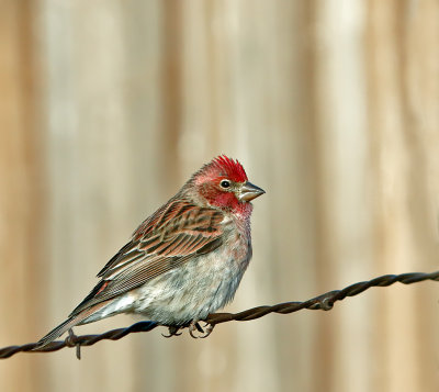
{"label": "dark twisted barbed wire strand beneath the perched bird", "polygon": [[[324,294],[309,299],[303,302],[284,302],[272,306],[258,306],[252,307],[239,313],[213,313],[207,316],[204,322],[210,324],[212,327],[230,322],[230,321],[250,321],[255,318],[262,317],[269,313],[289,314],[299,312],[303,309],[312,311],[330,311],[337,301],[341,301],[347,296],[353,296],[362,293],[363,291],[372,287],[387,287],[396,282],[403,284],[412,284],[426,280],[439,281],[439,271],[424,273],[424,272],[410,272],[402,275],[384,275],[374,278],[369,281],[362,281],[348,285],[342,290],[328,291]],[[81,335],[77,336],[72,333],[65,340],[52,341],[43,348],[36,348],[36,343],[29,343],[22,346],[9,346],[0,348],[0,359],[12,357],[16,352],[50,352],[57,351],[65,347],[76,347],[76,354],[78,359],[80,359],[80,348],[83,346],[92,346],[100,340],[119,340],[124,336],[138,333],[138,332],[149,332],[159,326],[154,322],[139,322],[131,325],[127,328],[119,328],[105,332],[101,335]],[[170,335],[177,335],[177,333],[170,332]]]}

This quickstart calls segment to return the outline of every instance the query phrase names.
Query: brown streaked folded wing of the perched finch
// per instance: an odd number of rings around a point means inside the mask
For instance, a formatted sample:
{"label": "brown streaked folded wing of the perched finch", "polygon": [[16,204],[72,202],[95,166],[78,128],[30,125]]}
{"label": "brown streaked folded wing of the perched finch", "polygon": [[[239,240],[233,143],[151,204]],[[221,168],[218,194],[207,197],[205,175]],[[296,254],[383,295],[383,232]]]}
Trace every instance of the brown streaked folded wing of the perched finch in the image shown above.
{"label": "brown streaked folded wing of the perched finch", "polygon": [[70,316],[216,249],[223,243],[223,219],[218,210],[170,201],[147,219],[98,273],[101,281]]}

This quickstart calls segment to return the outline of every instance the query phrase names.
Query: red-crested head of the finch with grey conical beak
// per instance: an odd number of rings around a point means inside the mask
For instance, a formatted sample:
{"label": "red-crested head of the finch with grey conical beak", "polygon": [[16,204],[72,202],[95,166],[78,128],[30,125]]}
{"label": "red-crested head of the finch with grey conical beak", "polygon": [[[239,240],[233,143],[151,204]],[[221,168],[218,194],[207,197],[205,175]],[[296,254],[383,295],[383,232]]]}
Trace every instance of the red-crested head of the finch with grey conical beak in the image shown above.
{"label": "red-crested head of the finch with grey conical beak", "polygon": [[248,181],[243,166],[221,155],[196,171],[191,182],[210,205],[230,212],[251,212],[250,201],[266,193]]}

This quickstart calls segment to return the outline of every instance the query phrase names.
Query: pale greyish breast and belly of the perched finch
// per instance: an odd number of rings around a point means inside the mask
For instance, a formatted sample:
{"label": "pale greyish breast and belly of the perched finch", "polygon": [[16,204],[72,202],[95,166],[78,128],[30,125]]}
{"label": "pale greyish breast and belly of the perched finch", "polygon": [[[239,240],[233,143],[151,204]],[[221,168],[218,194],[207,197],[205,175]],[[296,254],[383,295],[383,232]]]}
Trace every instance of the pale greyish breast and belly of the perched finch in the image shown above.
{"label": "pale greyish breast and belly of the perched finch", "polygon": [[250,257],[249,238],[226,231],[215,250],[133,290],[136,300],[131,311],[165,325],[203,320],[233,300]]}

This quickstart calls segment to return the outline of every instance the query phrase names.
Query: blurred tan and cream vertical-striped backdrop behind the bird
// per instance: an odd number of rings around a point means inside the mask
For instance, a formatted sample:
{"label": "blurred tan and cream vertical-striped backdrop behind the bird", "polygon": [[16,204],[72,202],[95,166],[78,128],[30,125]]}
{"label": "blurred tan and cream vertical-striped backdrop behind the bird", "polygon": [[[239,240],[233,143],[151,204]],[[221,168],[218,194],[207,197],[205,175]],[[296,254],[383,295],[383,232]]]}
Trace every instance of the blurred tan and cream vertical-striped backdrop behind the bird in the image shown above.
{"label": "blurred tan and cream vertical-striped backdrop behind the bird", "polygon": [[[225,311],[439,254],[437,0],[0,0],[0,347],[36,341],[214,156],[255,201]],[[0,362],[1,391],[438,391],[439,287]],[[77,334],[134,323],[117,316]]]}

